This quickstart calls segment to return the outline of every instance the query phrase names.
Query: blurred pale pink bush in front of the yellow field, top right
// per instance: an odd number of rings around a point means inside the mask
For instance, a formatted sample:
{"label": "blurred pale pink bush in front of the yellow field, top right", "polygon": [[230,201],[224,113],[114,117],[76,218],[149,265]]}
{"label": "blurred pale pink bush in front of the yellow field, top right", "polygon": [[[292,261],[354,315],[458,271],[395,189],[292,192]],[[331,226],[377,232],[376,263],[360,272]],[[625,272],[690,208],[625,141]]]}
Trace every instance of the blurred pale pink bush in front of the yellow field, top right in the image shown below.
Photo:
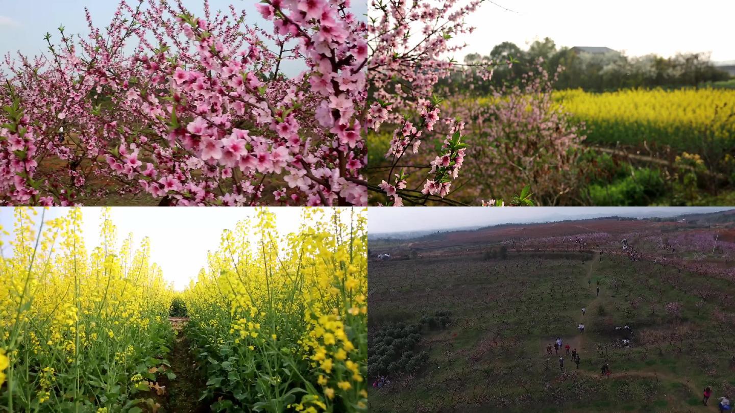
{"label": "blurred pale pink bush in front of the yellow field, top right", "polygon": [[514,85],[491,88],[488,97],[445,105],[448,115],[467,122],[466,179],[478,196],[512,193],[524,182],[533,184],[541,204],[584,203],[578,195],[587,175],[580,162],[584,125],[553,101],[559,72],[551,76],[540,63]]}

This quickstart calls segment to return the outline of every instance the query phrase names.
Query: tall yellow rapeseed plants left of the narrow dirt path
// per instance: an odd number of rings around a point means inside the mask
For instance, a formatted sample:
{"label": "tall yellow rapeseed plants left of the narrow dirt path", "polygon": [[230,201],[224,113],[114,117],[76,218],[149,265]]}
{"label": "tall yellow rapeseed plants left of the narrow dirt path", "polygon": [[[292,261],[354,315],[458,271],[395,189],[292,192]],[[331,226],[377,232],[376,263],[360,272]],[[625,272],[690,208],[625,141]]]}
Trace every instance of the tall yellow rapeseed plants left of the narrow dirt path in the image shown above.
{"label": "tall yellow rapeseed plants left of the narrow dirt path", "polygon": [[16,208],[13,254],[0,260],[0,409],[155,412],[149,395],[175,377],[165,373],[172,292],[147,241],[117,248],[109,212],[91,251],[80,209],[42,221]]}

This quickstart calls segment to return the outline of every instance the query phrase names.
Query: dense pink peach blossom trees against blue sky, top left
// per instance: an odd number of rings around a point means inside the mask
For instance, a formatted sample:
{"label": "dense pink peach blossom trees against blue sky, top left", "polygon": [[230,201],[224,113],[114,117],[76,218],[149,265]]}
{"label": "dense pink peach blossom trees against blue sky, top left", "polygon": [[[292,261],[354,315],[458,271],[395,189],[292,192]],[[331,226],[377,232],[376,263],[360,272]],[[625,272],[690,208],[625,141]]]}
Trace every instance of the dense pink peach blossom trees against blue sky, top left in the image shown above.
{"label": "dense pink peach blossom trees against blue sky, top left", "polygon": [[[256,7],[268,29],[234,5],[122,0],[104,29],[87,12],[89,35],[61,26],[46,56],[7,57],[0,204],[110,187],[162,205],[366,204],[365,22],[350,0]],[[288,60],[306,69],[285,76]]]}

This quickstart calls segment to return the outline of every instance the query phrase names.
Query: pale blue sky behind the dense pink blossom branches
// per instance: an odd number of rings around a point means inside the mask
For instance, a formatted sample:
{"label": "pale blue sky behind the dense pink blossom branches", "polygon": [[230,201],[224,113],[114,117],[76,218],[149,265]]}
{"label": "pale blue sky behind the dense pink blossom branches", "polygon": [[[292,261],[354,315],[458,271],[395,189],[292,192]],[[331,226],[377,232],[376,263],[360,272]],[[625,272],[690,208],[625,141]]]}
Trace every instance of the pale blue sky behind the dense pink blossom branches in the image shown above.
{"label": "pale blue sky behind the dense pink blossom branches", "polygon": [[[183,0],[182,3],[195,15],[204,15],[203,0]],[[137,1],[129,0],[129,4],[135,5]],[[229,4],[234,4],[237,10],[248,11],[249,24],[258,24],[270,31],[273,24],[257,12],[257,1],[209,1],[212,12],[222,10],[229,13]],[[117,6],[117,0],[0,0],[0,56],[18,50],[26,55],[45,54],[47,49],[43,36],[46,32],[54,36],[54,43],[60,41],[57,28],[62,24],[67,33],[86,35],[85,7],[90,10],[95,25],[104,27],[112,20]],[[357,15],[362,15],[367,11],[367,4],[365,0],[356,0],[352,8]],[[291,76],[299,71],[301,66],[296,62],[284,66],[284,72]]]}

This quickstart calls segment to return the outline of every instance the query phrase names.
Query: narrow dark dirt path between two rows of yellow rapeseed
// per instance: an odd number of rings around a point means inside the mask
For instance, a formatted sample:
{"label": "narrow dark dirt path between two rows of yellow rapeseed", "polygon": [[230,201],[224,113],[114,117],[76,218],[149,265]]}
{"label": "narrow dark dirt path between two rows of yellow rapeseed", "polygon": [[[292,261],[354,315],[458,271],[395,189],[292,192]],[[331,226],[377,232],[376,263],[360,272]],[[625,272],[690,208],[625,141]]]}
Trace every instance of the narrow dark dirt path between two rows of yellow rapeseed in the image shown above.
{"label": "narrow dark dirt path between two rows of yellow rapeseed", "polygon": [[189,351],[189,340],[184,335],[184,327],[189,323],[185,317],[171,317],[173,331],[173,348],[168,357],[171,370],[176,378],[166,383],[166,400],[159,413],[204,413],[209,407],[199,402],[199,395],[204,389],[204,381],[196,372],[196,361]]}

